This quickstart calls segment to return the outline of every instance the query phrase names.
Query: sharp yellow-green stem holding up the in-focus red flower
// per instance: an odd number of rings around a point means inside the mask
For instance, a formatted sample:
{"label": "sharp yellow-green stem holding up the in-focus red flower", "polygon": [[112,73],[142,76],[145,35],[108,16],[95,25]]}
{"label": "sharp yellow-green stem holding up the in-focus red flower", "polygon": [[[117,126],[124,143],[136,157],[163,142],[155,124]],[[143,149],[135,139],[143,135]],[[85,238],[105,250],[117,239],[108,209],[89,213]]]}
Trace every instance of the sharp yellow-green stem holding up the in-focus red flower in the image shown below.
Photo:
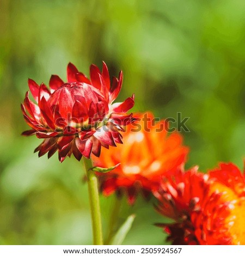
{"label": "sharp yellow-green stem holding up the in-focus red flower", "polygon": [[91,211],[91,220],[93,227],[94,245],[103,245],[102,226],[101,226],[101,213],[100,213],[100,198],[97,184],[97,177],[93,170],[90,159],[83,157],[84,167],[88,179],[89,203]]}

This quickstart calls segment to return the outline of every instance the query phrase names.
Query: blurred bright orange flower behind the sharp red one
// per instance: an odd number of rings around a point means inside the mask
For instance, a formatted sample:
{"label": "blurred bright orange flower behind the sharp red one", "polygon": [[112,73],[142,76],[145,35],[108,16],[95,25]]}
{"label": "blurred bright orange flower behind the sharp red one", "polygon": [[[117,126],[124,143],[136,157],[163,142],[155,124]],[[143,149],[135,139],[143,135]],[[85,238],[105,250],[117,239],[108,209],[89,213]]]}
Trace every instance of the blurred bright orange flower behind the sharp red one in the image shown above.
{"label": "blurred bright orange flower behind the sharp red one", "polygon": [[155,123],[154,115],[149,112],[135,116],[137,120],[122,133],[123,145],[102,149],[99,159],[93,157],[95,165],[100,167],[121,163],[112,172],[100,174],[101,190],[105,196],[126,191],[130,203],[138,191],[148,196],[155,190],[165,173],[185,163],[188,153],[179,133],[168,135],[166,121]]}

